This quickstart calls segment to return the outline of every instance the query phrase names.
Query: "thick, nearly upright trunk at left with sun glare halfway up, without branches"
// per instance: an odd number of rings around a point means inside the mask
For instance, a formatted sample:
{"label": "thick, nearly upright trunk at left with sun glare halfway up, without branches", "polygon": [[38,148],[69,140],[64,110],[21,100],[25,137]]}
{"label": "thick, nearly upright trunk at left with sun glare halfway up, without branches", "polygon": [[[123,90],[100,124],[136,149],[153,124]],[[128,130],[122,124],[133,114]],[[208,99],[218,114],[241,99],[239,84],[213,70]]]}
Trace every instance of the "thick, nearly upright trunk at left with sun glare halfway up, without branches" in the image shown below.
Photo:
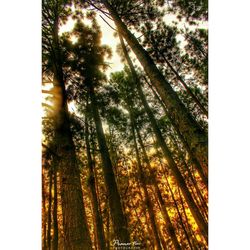
{"label": "thick, nearly upright trunk at left with sun glare halfway up, without branches", "polygon": [[58,90],[55,110],[55,137],[63,214],[64,246],[69,250],[89,250],[91,240],[85,216],[80,171],[70,130],[67,94],[58,38],[58,17],[53,30],[54,87]]}

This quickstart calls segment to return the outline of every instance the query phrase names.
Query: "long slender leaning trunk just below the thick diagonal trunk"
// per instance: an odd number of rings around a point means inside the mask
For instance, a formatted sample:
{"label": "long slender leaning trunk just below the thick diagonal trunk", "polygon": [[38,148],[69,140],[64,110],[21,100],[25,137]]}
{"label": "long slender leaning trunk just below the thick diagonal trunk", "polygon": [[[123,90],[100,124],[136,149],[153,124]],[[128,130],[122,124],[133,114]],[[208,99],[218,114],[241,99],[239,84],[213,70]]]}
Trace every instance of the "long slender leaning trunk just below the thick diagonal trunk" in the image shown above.
{"label": "long slender leaning trunk just below the thick diagonal trunk", "polygon": [[[122,38],[121,38],[121,42],[122,42]],[[140,81],[137,77],[137,74],[136,74],[136,71],[133,67],[133,63],[128,55],[128,52],[125,48],[125,44],[124,42],[122,42],[122,47],[123,47],[123,52],[124,52],[124,55],[126,57],[126,60],[128,62],[128,65],[130,67],[130,70],[131,70],[131,73],[132,73],[132,76],[134,78],[134,83],[135,83],[135,86],[136,86],[136,89],[137,89],[137,92],[139,94],[139,97],[141,99],[141,102],[143,104],[143,107],[145,108],[145,111],[149,117],[149,120],[150,120],[150,123],[151,123],[151,126],[153,128],[153,131],[154,131],[154,134],[156,136],[156,139],[157,139],[157,143],[158,145],[161,147],[162,149],[162,152],[168,162],[168,166],[170,167],[170,169],[172,170],[172,174],[174,175],[175,177],[175,180],[178,184],[178,186],[181,188],[181,191],[189,205],[189,208],[190,208],[190,211],[196,221],[196,223],[198,224],[202,234],[204,235],[204,237],[206,239],[208,239],[208,225],[207,223],[205,222],[202,214],[200,213],[199,211],[199,208],[197,207],[197,205],[195,204],[194,200],[193,200],[193,197],[191,195],[191,193],[189,192],[189,189],[185,183],[185,180],[183,178],[183,176],[181,175],[181,172],[180,170],[178,169],[172,155],[171,155],[171,152],[170,150],[168,149],[167,147],[167,144],[165,143],[165,140],[162,136],[162,133],[157,125],[157,122],[154,118],[154,115],[148,105],[148,102],[145,98],[145,95],[143,94],[143,91],[142,91],[142,88],[141,88],[141,85],[140,85]]]}

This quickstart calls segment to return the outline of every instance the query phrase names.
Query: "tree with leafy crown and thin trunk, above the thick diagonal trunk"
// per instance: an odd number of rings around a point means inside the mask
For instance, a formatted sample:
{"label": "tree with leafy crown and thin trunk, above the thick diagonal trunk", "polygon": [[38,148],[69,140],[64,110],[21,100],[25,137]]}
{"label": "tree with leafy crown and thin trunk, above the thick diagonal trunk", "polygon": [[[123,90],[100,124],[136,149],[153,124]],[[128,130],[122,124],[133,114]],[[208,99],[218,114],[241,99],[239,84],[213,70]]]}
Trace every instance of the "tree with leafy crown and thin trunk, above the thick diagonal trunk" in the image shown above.
{"label": "tree with leafy crown and thin trunk, above the thick diagonal trunk", "polygon": [[[154,61],[157,62],[157,65],[162,65],[162,68],[165,69],[165,77],[170,78],[173,75],[173,81],[175,81],[175,78],[177,80],[176,87],[178,87],[178,83],[180,83],[191,100],[199,107],[201,113],[208,117],[206,107],[191,89],[193,86],[191,85],[189,87],[186,80],[184,80],[181,74],[176,70],[179,69],[178,71],[182,72],[183,68],[185,68],[183,65],[186,64],[184,60],[185,57],[181,56],[182,51],[176,40],[176,36],[179,33],[178,29],[167,26],[163,21],[158,21],[156,27],[154,27],[151,22],[147,22],[141,30],[144,35],[143,46],[147,48],[147,51]],[[199,46],[199,48],[200,47],[201,46]],[[165,64],[167,64],[166,67]],[[192,71],[193,69],[189,68],[189,74]],[[173,85],[173,83],[171,85]],[[181,96],[179,97],[181,98]]]}

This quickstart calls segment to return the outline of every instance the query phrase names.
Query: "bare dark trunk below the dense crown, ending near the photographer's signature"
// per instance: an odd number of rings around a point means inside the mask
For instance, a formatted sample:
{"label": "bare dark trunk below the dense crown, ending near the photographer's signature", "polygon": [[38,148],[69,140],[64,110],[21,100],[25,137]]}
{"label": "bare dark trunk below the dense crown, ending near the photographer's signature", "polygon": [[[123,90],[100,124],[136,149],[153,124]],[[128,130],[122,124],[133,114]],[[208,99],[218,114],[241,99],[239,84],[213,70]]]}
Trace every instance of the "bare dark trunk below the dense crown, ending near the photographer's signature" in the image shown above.
{"label": "bare dark trunk below the dense crown, ending near the photographer's signature", "polygon": [[102,122],[97,108],[97,102],[93,86],[89,86],[89,95],[91,100],[91,109],[96,125],[97,140],[100,148],[102,167],[104,173],[105,185],[108,192],[108,201],[113,222],[114,232],[117,237],[116,240],[121,242],[130,242],[129,232],[127,228],[126,218],[122,210],[121,198],[118,192],[117,183],[115,180],[112,162],[110,160],[106,138],[104,135]]}

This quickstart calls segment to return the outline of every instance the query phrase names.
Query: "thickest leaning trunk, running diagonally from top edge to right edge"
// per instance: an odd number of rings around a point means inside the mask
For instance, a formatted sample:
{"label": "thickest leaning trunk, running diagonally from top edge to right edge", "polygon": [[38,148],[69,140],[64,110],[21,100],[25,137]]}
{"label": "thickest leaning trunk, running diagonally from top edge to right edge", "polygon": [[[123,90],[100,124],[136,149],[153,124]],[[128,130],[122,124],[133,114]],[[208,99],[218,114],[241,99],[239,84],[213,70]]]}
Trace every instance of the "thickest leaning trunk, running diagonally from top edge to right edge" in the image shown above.
{"label": "thickest leaning trunk, running diagonally from top edge to right edge", "polygon": [[164,78],[162,73],[156,67],[154,61],[149,54],[139,44],[135,36],[128,30],[126,25],[120,19],[115,9],[107,0],[101,1],[110,15],[112,16],[118,32],[126,39],[127,43],[134,51],[138,60],[142,64],[145,72],[150,78],[152,84],[156,87],[159,95],[166,104],[173,121],[178,126],[180,132],[186,139],[194,155],[202,162],[203,165],[208,164],[208,139],[207,134],[193,119],[192,115],[185,108],[184,104],[178,98],[176,92],[172,89],[169,82]]}

